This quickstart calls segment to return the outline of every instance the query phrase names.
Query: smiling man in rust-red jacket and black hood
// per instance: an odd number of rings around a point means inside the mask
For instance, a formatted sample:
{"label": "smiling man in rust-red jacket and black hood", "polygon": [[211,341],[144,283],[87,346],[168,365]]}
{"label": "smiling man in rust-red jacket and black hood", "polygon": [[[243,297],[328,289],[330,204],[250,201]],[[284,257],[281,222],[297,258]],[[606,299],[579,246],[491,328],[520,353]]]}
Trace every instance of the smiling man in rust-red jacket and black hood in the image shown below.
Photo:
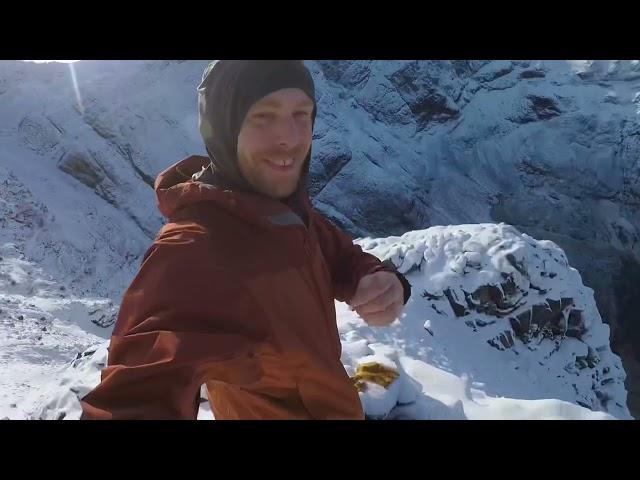
{"label": "smiling man in rust-red jacket and black hood", "polygon": [[168,223],[126,291],[84,419],[362,419],[334,299],[370,325],[410,286],[313,209],[316,116],[300,61],[219,61],[199,89],[208,157],[155,183]]}

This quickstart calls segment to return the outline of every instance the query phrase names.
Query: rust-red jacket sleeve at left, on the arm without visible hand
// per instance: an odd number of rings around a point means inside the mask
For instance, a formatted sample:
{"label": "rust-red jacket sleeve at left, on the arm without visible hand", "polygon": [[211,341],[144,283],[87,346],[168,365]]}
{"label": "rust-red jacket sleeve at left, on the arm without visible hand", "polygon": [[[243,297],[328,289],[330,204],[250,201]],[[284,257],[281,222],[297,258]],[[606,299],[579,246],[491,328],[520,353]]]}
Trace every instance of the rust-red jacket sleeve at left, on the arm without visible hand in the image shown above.
{"label": "rust-red jacket sleeve at left, on the arm without visible hand", "polygon": [[260,378],[260,332],[233,318],[241,309],[225,308],[241,291],[205,238],[195,227],[169,232],[147,251],[123,297],[101,382],[81,401],[82,419],[196,419],[203,383]]}

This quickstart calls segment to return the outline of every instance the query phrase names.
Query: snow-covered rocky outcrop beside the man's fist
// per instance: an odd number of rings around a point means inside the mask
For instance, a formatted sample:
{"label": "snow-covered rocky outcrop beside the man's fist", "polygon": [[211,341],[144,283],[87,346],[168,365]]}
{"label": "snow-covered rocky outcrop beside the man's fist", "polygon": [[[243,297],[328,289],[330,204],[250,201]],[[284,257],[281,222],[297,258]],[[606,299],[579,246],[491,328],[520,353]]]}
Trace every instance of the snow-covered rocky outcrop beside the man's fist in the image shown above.
{"label": "snow-covered rocky outcrop beside the man's fist", "polygon": [[[456,408],[467,418],[493,418],[496,398],[553,398],[630,418],[609,327],[593,291],[553,242],[505,224],[480,224],[358,243],[407,272],[414,295],[406,316],[388,329],[371,329],[342,310],[347,343],[360,342],[363,351],[363,339],[370,349],[393,347],[402,371],[418,382],[442,375],[438,370],[455,375],[467,387],[448,405],[461,402]],[[345,362],[353,365],[357,355],[350,351],[345,348]],[[423,383],[423,395],[434,381]],[[529,413],[518,407],[514,415]]]}

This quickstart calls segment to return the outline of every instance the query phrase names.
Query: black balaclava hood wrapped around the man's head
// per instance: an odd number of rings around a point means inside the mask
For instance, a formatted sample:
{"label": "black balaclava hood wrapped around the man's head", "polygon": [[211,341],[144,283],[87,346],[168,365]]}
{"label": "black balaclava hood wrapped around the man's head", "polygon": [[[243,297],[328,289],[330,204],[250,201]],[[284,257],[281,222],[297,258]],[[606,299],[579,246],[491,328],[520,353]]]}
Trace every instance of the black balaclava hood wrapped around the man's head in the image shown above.
{"label": "black balaclava hood wrapped around the man's head", "polygon": [[[198,125],[212,174],[203,175],[201,181],[223,189],[258,193],[238,167],[238,135],[251,106],[283,88],[299,88],[315,103],[313,78],[301,60],[218,60],[209,64],[198,87]],[[312,122],[315,116],[314,107]],[[310,158],[311,149],[296,191],[282,200],[305,223]]]}

